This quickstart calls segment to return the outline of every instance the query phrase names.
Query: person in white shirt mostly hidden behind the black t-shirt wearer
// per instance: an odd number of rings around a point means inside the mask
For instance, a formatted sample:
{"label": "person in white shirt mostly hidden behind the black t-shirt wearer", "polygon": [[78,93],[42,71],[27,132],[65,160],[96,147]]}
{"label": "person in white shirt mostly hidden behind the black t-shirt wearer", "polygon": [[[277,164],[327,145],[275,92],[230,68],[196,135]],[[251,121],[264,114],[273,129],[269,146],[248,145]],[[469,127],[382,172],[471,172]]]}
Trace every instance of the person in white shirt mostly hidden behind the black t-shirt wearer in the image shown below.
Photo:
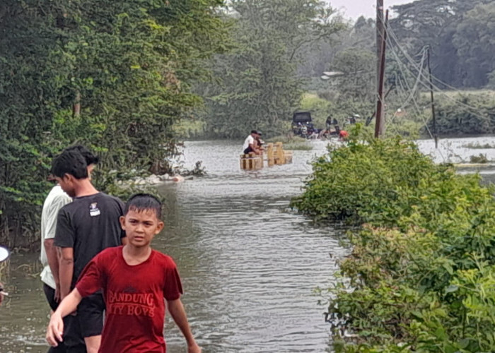
{"label": "person in white shirt mostly hidden behind the black t-shirt wearer", "polygon": [[[93,155],[86,147],[75,145],[66,150],[75,150],[81,153],[86,160],[88,175],[98,163],[98,157]],[[48,193],[41,213],[41,255],[40,261],[43,265],[41,272],[41,280],[43,282],[43,292],[47,298],[50,309],[55,311],[60,300],[60,280],[59,280],[59,259],[57,256],[57,248],[54,246],[55,229],[57,227],[57,215],[59,210],[67,203],[72,202],[59,184],[55,185],[50,193]],[[72,316],[65,319],[64,345],[57,348],[50,348],[48,352],[66,352],[66,346],[71,347],[71,352],[86,352],[81,330],[76,327],[77,322],[72,320]]]}

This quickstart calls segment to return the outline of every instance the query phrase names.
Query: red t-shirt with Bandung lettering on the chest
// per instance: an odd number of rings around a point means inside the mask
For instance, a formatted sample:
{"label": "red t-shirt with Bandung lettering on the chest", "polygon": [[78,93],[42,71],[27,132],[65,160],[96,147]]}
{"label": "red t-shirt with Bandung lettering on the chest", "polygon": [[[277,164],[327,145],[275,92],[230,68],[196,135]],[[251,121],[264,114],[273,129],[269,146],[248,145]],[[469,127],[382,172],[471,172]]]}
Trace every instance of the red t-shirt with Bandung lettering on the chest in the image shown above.
{"label": "red t-shirt with Bandung lettering on the chest", "polygon": [[100,353],[165,353],[165,302],[180,298],[182,285],[170,256],[151,251],[128,265],[122,246],[103,250],[84,268],[76,288],[82,297],[103,289],[107,310]]}

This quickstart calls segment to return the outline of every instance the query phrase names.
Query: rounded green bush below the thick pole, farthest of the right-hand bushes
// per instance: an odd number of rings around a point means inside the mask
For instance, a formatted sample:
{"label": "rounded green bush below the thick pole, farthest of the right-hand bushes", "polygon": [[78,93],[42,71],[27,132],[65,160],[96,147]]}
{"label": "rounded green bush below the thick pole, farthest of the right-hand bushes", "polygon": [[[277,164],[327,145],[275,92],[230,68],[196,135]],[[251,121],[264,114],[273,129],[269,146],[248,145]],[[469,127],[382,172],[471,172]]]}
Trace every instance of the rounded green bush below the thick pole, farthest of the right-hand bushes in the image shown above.
{"label": "rounded green bush below the thick pole, farthest of the right-hand bushes", "polygon": [[[369,222],[382,217],[383,222],[393,222],[404,207],[395,188],[417,189],[424,169],[445,169],[400,137],[393,143],[378,139],[362,143],[356,135],[359,128],[351,133],[347,148],[329,145],[329,154],[316,160],[313,175],[305,182],[305,193],[293,199],[293,207],[318,220]],[[377,205],[379,214],[374,213]]]}

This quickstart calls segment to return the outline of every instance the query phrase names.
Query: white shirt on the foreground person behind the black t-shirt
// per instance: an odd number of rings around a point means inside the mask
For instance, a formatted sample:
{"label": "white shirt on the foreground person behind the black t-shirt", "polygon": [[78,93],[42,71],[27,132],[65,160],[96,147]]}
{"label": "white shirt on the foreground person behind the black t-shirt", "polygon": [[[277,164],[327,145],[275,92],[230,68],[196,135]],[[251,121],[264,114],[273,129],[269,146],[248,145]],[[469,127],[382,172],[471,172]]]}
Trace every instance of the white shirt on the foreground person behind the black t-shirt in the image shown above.
{"label": "white shirt on the foreground person behind the black t-shirt", "polygon": [[41,280],[55,289],[55,280],[52,275],[52,270],[48,265],[47,252],[45,251],[45,239],[53,239],[55,237],[55,229],[57,228],[57,215],[59,210],[70,203],[72,199],[64,193],[59,185],[56,185],[50,190],[41,213],[41,256],[40,261],[43,265],[41,272]]}

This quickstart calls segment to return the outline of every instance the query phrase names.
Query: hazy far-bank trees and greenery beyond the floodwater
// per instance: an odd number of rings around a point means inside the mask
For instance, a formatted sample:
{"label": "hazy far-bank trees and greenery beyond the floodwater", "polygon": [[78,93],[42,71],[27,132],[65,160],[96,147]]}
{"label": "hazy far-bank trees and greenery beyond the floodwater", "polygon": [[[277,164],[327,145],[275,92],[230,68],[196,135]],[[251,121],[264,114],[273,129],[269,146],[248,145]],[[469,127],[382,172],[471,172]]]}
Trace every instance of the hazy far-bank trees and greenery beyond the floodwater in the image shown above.
{"label": "hazy far-bank trees and greenery beyond the floodwater", "polygon": [[[493,1],[419,0],[394,6],[393,11],[386,64],[387,125],[396,133],[414,134],[431,119],[425,109],[429,100],[422,99],[429,79],[421,56],[429,47],[434,89],[437,99],[445,101],[438,106],[438,133],[491,133],[491,127],[484,130],[486,124],[473,119],[495,116],[488,95],[472,98],[440,91],[495,87]],[[206,61],[214,80],[195,85],[206,105],[177,131],[182,136],[241,138],[252,127],[265,131],[265,136],[281,135],[288,133],[296,109],[317,112],[318,121],[330,114],[341,124],[351,114],[363,119],[373,115],[374,19],[351,22],[315,0],[239,0],[231,1],[225,20],[233,25],[231,50]],[[340,75],[322,80],[326,71]],[[301,102],[308,94],[325,104]],[[453,105],[458,109],[451,109]],[[397,109],[406,112],[400,119]],[[426,128],[421,135],[429,135]]]}

